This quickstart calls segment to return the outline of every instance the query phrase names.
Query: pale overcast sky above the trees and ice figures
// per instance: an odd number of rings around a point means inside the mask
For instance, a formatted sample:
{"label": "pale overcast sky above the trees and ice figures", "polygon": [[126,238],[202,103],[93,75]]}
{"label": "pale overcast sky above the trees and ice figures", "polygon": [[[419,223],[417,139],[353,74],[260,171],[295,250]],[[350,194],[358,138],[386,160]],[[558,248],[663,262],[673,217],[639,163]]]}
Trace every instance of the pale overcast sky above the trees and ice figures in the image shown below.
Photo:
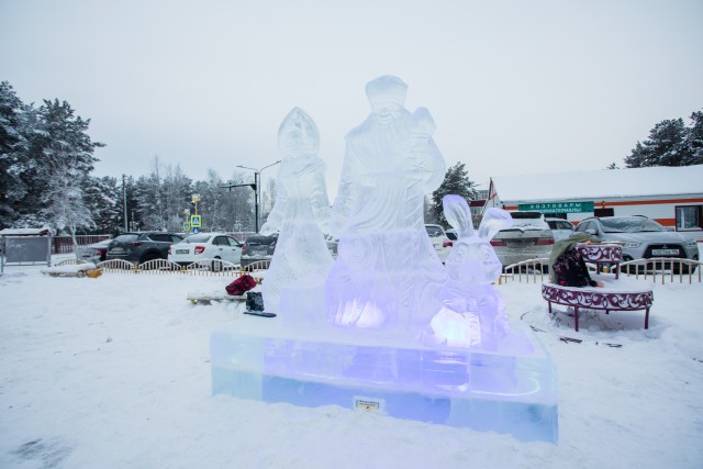
{"label": "pale overcast sky above the trees and ice figures", "polygon": [[477,183],[623,166],[703,109],[703,1],[0,0],[0,80],[90,119],[97,176],[147,175],[155,155],[193,179],[261,168],[300,107],[332,197],[386,74]]}

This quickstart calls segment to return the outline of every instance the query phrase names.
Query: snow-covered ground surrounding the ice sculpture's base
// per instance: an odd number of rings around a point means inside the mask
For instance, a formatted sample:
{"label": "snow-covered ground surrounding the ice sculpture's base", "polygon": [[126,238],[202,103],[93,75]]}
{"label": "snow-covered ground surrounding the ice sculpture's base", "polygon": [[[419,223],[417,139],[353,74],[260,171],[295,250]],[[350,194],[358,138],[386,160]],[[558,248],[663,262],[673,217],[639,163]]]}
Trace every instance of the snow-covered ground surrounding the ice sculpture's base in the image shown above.
{"label": "snow-covered ground surrounding the ice sculpture's base", "polygon": [[648,331],[644,313],[620,312],[582,314],[579,333],[566,315],[549,319],[538,283],[500,287],[511,321],[547,331],[538,337],[559,387],[551,445],[211,397],[210,332],[243,305],[192,305],[186,294],[228,279],[40,270],[0,276],[2,468],[703,467],[698,282],[655,286]]}

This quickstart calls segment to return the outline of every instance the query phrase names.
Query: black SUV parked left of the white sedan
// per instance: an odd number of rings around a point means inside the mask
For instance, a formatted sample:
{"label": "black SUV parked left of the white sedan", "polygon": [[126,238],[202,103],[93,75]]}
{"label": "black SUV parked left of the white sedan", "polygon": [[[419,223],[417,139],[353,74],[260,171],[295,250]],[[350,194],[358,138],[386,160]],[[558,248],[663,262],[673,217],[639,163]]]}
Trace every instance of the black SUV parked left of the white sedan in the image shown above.
{"label": "black SUV parked left of the white sedan", "polygon": [[174,243],[180,243],[182,239],[177,233],[123,233],[112,239],[108,247],[105,259],[123,259],[132,264],[166,259],[168,257],[168,247]]}

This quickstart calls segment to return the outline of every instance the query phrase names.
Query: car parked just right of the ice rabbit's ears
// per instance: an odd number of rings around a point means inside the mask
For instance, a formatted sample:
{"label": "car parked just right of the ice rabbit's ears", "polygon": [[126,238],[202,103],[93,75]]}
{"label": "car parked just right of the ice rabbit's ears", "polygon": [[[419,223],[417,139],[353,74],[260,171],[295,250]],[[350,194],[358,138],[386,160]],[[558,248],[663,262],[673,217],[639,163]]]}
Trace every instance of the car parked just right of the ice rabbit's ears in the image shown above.
{"label": "car parked just right of the ice rabbit's ears", "polygon": [[491,239],[503,267],[523,260],[549,257],[554,234],[540,212],[510,212],[513,226]]}

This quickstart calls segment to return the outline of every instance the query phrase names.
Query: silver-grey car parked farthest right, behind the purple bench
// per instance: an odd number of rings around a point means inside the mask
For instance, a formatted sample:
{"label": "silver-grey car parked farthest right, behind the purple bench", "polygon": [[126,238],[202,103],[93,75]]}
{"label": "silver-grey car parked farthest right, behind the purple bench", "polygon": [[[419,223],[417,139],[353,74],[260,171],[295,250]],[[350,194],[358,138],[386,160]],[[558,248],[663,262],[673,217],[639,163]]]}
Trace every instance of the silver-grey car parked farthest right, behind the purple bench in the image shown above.
{"label": "silver-grey car parked farthest right, behind the purple bench", "polygon": [[582,220],[576,230],[598,236],[601,242],[620,243],[624,261],[655,257],[699,259],[695,241],[685,239],[644,215],[593,216]]}

